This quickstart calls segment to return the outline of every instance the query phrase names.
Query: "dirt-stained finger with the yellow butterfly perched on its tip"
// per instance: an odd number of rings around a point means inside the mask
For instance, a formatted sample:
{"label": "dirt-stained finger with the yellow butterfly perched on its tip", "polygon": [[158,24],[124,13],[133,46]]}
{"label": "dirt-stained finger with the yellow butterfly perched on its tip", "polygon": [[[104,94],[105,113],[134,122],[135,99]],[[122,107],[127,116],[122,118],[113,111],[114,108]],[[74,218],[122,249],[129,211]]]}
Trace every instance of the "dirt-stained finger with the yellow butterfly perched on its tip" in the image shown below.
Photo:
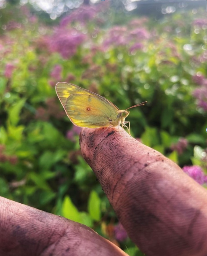
{"label": "dirt-stained finger with the yellow butterfly perched on its tip", "polygon": [[207,256],[207,190],[119,131],[83,129],[80,146],[129,237],[147,256]]}

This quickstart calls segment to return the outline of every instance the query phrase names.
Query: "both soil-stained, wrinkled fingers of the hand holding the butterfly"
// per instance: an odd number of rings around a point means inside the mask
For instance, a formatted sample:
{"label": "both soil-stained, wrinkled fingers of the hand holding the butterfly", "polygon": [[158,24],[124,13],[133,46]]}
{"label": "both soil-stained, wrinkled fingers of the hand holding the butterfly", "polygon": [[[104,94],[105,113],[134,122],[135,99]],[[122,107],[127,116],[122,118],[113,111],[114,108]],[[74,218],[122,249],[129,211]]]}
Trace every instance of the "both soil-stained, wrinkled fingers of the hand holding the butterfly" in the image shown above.
{"label": "both soil-stained, wrinkled fingers of the hand holding the butterfly", "polygon": [[[207,190],[121,128],[82,129],[80,146],[146,256],[207,256]],[[0,197],[0,256],[124,256],[92,229]]]}

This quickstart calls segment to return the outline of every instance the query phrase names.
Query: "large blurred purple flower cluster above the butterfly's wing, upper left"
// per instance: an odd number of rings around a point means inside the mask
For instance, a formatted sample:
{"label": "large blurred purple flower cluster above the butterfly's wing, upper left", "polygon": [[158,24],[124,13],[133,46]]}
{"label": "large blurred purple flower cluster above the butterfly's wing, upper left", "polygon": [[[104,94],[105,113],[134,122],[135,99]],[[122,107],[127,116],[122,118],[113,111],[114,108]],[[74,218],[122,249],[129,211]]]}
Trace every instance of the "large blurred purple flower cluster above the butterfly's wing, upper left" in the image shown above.
{"label": "large blurred purple flower cluster above the butterfly's wing, upper left", "polygon": [[57,51],[64,59],[71,58],[77,52],[77,47],[85,40],[85,35],[76,30],[59,28],[54,34],[51,43],[51,51]]}

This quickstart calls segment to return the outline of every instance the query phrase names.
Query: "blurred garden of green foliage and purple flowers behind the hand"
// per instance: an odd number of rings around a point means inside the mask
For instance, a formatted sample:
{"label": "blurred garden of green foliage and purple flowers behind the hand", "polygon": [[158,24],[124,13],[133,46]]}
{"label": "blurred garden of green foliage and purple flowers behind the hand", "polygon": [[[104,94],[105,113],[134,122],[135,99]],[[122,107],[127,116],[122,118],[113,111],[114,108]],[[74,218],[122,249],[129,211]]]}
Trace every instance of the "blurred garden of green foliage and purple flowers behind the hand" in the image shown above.
{"label": "blurred garden of green foliage and purple flowers behind the hand", "polygon": [[133,137],[207,184],[207,1],[0,0],[0,196],[83,223],[130,256],[55,92],[130,110]]}

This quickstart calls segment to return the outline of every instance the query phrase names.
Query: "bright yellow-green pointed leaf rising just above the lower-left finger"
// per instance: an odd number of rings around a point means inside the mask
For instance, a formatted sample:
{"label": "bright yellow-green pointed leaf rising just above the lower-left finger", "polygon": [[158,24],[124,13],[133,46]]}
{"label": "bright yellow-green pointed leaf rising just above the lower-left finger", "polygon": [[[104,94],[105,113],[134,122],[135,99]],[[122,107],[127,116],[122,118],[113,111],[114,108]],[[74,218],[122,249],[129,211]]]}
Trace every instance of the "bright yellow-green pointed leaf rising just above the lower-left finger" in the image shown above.
{"label": "bright yellow-green pointed leaf rising just above the lower-left finger", "polygon": [[65,196],[64,198],[62,214],[65,218],[69,218],[72,221],[81,222],[81,215],[69,196]]}

